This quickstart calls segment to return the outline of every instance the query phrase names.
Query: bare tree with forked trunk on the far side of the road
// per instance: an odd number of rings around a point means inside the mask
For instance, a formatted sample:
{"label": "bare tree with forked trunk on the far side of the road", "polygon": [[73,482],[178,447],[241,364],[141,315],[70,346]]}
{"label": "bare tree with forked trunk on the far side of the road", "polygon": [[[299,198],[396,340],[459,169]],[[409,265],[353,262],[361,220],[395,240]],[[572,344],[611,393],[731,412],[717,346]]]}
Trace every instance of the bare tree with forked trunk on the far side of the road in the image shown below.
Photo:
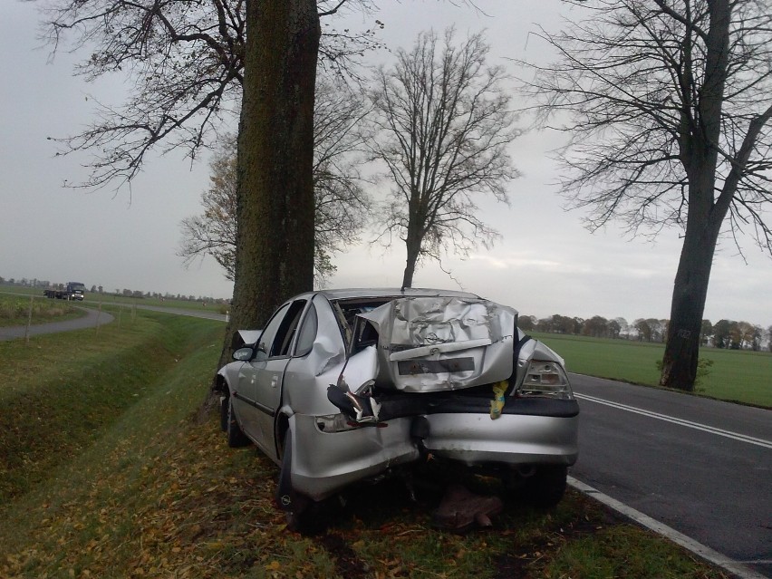
{"label": "bare tree with forked trunk on the far side of the road", "polygon": [[692,390],[719,235],[749,230],[772,251],[772,11],[763,0],[570,4],[588,18],[539,34],[560,60],[534,67],[527,87],[541,121],[568,119],[564,190],[591,210],[591,229],[621,218],[633,235],[683,230],[661,384]]}

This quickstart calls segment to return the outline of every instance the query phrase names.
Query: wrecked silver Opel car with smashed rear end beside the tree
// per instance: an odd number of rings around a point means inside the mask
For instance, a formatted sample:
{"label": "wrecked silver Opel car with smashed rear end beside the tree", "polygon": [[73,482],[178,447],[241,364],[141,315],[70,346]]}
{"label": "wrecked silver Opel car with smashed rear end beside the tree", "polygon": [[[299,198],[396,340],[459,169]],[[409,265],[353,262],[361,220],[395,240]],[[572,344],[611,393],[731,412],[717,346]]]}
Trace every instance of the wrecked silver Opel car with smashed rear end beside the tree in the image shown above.
{"label": "wrecked silver Opel car with smashed rear end beside the tree", "polygon": [[540,505],[563,497],[579,407],[563,359],[516,310],[444,290],[325,290],[243,335],[254,343],[217,374],[223,429],[279,465],[294,526],[314,502],[427,458]]}

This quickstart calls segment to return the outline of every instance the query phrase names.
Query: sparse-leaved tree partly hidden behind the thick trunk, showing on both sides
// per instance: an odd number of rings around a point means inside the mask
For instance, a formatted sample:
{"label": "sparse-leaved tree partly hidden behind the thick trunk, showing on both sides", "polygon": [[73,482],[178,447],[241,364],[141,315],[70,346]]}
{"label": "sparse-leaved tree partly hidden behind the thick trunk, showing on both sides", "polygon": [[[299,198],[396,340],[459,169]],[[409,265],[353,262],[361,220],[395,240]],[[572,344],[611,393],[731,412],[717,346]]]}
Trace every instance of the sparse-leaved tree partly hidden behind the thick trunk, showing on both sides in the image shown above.
{"label": "sparse-leaved tree partly hidden behind the thick trunk, showing on both sides", "polygon": [[[362,121],[361,98],[333,82],[317,82],[314,102],[314,277],[332,275],[333,254],[355,243],[364,227],[370,198],[352,157],[362,143],[354,130]],[[190,265],[212,256],[227,279],[236,275],[236,137],[226,135],[210,163],[210,186],[201,196],[204,212],[181,225],[178,255]]]}

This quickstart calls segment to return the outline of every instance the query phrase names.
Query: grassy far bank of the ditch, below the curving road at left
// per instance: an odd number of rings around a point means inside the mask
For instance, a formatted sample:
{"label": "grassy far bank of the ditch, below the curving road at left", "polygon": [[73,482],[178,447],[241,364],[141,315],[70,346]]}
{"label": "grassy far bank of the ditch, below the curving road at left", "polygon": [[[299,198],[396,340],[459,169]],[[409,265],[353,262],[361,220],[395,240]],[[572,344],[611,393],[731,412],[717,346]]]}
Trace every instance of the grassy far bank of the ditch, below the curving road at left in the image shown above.
{"label": "grassy far bank of the ditch, below the curving road at left", "polygon": [[0,503],[91,445],[213,327],[222,332],[221,323],[149,313],[0,343]]}

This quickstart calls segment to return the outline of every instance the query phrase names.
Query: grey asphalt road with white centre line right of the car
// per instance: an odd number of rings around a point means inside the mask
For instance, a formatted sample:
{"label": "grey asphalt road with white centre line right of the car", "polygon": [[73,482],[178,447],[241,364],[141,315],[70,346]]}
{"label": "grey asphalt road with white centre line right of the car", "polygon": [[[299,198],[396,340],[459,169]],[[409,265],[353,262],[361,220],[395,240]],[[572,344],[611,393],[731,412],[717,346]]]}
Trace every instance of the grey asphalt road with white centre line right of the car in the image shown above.
{"label": "grey asphalt road with white centre line right of the car", "polygon": [[772,577],[772,411],[572,374],[571,474]]}

